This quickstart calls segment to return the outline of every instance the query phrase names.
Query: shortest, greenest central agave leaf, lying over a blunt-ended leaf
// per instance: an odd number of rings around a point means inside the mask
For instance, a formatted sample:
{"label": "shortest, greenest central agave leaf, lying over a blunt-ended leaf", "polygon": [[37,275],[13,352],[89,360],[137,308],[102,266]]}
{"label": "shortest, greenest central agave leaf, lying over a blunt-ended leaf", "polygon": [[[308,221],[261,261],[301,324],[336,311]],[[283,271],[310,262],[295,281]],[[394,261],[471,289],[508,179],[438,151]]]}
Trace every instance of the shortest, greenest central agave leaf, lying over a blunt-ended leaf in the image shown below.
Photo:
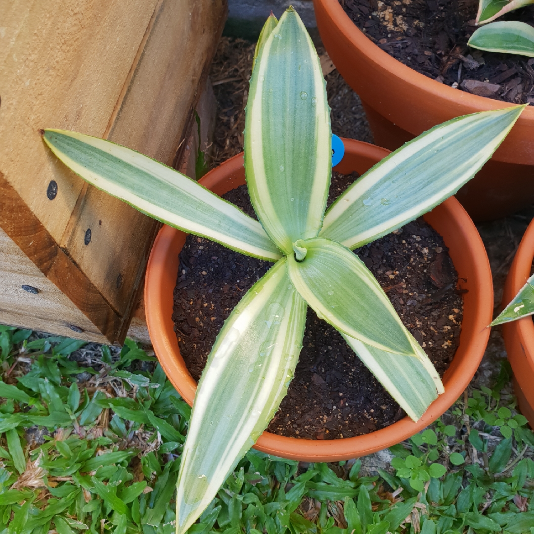
{"label": "shortest, greenest central agave leaf, lying over a blunt-ended leaf", "polygon": [[340,332],[382,350],[412,354],[407,331],[373,274],[335,241],[303,241],[302,262],[288,256],[288,272],[303,299]]}

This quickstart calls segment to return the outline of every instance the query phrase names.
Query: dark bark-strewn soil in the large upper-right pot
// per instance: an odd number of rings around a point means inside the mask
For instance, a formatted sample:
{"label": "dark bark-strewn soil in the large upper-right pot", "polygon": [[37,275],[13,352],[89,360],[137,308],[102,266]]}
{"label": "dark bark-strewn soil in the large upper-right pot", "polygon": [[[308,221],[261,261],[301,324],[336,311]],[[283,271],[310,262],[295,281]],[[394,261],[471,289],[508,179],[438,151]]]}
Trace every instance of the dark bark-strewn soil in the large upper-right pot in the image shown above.
{"label": "dark bark-strewn soil in the large upper-right pot", "polygon": [[[365,35],[421,74],[474,95],[516,104],[534,102],[534,58],[467,46],[478,0],[340,0]],[[534,6],[498,20],[534,26]]]}

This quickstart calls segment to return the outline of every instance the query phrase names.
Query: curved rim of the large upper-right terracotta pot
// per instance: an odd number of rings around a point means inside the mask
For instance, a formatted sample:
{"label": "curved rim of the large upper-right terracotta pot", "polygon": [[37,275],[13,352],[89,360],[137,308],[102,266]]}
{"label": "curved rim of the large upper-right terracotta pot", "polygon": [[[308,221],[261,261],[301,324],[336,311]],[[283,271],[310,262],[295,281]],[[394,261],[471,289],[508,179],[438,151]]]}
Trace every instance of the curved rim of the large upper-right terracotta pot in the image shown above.
{"label": "curved rim of the large upper-right terracotta pot", "polygon": [[[449,100],[454,103],[461,103],[464,106],[473,108],[472,113],[479,111],[488,111],[490,109],[502,109],[503,107],[511,107],[516,104],[509,102],[501,102],[500,100],[493,100],[487,97],[472,95],[466,91],[458,91],[444,85],[436,80],[432,80],[428,76],[417,72],[417,70],[404,65],[398,59],[391,57],[387,52],[384,52],[380,47],[374,44],[362,30],[350,19],[349,15],[344,12],[338,0],[313,0],[314,3],[320,3],[324,9],[331,15],[332,20],[339,28],[340,32],[347,38],[357,49],[362,51],[365,56],[371,58],[375,63],[382,65],[385,69],[398,78],[409,81],[411,85],[418,88],[418,91],[428,92],[436,97]],[[534,108],[527,106],[527,109],[521,114],[525,120],[534,120]]]}

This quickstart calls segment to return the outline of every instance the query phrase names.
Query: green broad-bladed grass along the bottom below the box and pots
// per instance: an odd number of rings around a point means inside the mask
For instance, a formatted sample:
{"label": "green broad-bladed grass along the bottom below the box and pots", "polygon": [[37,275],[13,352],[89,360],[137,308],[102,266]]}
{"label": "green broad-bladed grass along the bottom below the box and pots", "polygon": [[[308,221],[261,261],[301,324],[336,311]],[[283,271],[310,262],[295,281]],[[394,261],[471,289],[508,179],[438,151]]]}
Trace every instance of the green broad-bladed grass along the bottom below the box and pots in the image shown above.
{"label": "green broad-bladed grass along the bottom below the box and pots", "polygon": [[[0,326],[0,534],[172,534],[190,408],[155,358]],[[250,450],[191,534],[534,534],[534,435],[503,367],[441,420],[360,460]]]}

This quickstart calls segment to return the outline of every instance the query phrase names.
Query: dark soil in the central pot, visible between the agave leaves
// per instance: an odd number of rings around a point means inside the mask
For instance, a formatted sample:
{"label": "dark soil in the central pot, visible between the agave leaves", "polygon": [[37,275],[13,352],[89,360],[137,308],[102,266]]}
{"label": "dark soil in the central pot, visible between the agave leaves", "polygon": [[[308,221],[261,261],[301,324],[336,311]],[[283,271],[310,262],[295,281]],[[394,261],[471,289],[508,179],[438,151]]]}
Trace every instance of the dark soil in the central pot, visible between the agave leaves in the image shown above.
{"label": "dark soil in the central pot, visible between the agave leaves", "polygon": [[[328,203],[356,178],[356,173],[334,172]],[[224,198],[256,218],[246,186]],[[457,274],[442,237],[418,219],[356,253],[442,376],[456,351],[462,319]],[[224,320],[271,265],[208,239],[187,236],[180,253],[172,318],[180,352],[195,380]],[[333,439],[369,433],[404,415],[336,329],[308,308],[295,377],[268,430]]]}

